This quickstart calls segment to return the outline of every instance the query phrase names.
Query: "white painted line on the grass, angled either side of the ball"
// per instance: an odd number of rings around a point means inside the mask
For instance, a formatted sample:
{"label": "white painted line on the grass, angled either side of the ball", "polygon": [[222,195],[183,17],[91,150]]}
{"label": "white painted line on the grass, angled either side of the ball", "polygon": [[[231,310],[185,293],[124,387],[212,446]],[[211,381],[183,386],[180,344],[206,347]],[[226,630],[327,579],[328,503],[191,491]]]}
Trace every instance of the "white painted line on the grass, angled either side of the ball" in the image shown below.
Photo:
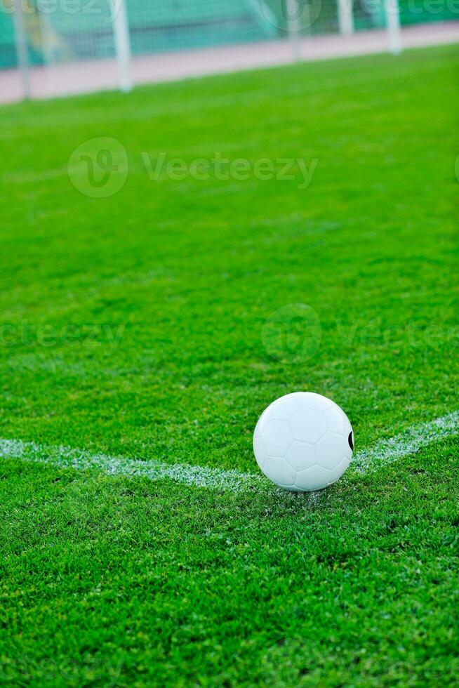
{"label": "white painted line on the grass, angled either side of the ball", "polygon": [[[357,452],[352,458],[351,470],[360,473],[373,472],[399,458],[415,454],[432,442],[454,435],[459,435],[459,411],[429,423],[413,425],[400,435],[381,440],[371,449]],[[22,461],[43,463],[57,468],[92,469],[106,475],[138,476],[151,480],[166,478],[185,485],[232,492],[253,487],[272,487],[262,475],[237,470],[91,454],[84,449],[46,446],[22,442],[20,439],[0,439],[0,458],[19,458]]]}

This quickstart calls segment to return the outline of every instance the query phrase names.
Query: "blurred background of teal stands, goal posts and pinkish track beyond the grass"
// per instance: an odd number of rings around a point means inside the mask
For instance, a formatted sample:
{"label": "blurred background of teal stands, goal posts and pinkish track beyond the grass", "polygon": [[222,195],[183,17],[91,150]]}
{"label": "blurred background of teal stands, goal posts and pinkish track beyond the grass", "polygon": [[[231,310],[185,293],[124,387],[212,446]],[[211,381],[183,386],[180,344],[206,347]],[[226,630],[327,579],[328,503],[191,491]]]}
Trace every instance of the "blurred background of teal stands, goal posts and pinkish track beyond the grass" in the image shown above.
{"label": "blurred background of teal stands, goal posts and pinkish track beyond the grass", "polygon": [[0,0],[0,102],[451,42],[453,0]]}

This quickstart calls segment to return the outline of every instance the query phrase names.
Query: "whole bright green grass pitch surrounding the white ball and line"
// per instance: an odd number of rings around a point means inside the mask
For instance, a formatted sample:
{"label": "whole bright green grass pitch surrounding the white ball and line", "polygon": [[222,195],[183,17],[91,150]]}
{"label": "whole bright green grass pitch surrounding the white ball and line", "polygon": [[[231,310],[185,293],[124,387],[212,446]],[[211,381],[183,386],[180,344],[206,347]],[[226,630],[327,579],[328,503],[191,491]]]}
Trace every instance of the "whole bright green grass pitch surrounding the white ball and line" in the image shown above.
{"label": "whole bright green grass pitch surrounding the white ball and line", "polygon": [[[293,390],[357,451],[457,411],[458,73],[450,46],[2,108],[0,436],[257,473]],[[128,156],[102,199],[67,173],[98,137]],[[161,153],[317,166],[152,180]],[[317,350],[273,357],[298,303]],[[4,456],[0,682],[458,685],[458,449],[319,501]]]}

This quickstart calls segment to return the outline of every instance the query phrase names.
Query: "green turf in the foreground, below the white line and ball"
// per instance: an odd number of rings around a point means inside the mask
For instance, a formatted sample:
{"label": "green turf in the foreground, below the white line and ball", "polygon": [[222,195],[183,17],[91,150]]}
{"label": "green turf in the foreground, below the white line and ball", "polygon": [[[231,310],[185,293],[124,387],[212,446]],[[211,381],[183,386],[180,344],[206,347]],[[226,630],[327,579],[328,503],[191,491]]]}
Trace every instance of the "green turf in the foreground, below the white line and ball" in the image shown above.
{"label": "green turf in the foreground, below the white line and ball", "polygon": [[447,685],[459,442],[305,498],[2,469],[13,684]]}

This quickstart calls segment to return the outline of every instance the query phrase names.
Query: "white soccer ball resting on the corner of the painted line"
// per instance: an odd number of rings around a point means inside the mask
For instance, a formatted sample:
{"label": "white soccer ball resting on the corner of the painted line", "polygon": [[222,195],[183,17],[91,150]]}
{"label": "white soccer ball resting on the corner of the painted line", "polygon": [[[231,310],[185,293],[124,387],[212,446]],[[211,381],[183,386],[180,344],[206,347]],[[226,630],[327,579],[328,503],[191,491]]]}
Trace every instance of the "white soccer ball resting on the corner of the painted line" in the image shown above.
{"label": "white soccer ball resting on the corner of the painted line", "polygon": [[263,411],[253,432],[253,453],[262,472],[294,492],[320,490],[338,480],[353,449],[345,412],[314,392],[279,397]]}

